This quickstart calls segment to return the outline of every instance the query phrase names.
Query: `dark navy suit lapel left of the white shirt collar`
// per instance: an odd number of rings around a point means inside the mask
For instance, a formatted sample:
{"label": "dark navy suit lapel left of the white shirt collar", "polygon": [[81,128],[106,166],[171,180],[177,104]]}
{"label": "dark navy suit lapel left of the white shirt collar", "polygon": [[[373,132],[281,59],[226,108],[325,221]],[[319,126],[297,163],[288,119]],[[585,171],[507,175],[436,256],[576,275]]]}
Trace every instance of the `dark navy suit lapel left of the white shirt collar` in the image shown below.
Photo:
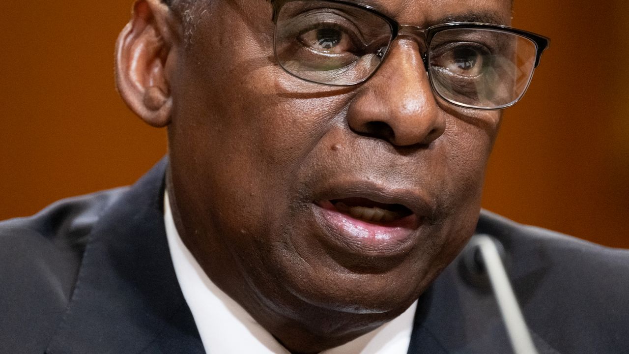
{"label": "dark navy suit lapel left of the white shirt collar", "polygon": [[170,260],[162,159],[94,226],[47,353],[204,353]]}

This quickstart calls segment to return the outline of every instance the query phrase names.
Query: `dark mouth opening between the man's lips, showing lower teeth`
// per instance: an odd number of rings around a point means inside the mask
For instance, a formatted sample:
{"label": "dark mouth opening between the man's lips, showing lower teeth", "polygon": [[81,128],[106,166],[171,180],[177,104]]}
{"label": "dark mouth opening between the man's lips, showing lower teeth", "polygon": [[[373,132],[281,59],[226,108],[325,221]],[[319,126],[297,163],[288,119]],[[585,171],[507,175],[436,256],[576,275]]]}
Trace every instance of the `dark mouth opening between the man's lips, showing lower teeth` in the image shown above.
{"label": "dark mouth opening between the man's lips, showing lower teeth", "polygon": [[370,224],[386,225],[413,214],[404,205],[379,203],[367,198],[334,199],[329,203],[341,214]]}

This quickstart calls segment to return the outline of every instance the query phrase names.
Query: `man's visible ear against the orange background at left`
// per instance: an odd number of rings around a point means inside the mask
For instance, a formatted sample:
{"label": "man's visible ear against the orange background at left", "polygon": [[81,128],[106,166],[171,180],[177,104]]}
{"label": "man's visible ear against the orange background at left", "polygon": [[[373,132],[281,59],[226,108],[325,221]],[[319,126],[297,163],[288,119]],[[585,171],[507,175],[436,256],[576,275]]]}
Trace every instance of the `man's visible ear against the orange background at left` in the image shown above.
{"label": "man's visible ear against the orange background at left", "polygon": [[160,0],[137,0],[116,42],[116,87],[126,104],[153,127],[170,123],[169,77],[177,24]]}

